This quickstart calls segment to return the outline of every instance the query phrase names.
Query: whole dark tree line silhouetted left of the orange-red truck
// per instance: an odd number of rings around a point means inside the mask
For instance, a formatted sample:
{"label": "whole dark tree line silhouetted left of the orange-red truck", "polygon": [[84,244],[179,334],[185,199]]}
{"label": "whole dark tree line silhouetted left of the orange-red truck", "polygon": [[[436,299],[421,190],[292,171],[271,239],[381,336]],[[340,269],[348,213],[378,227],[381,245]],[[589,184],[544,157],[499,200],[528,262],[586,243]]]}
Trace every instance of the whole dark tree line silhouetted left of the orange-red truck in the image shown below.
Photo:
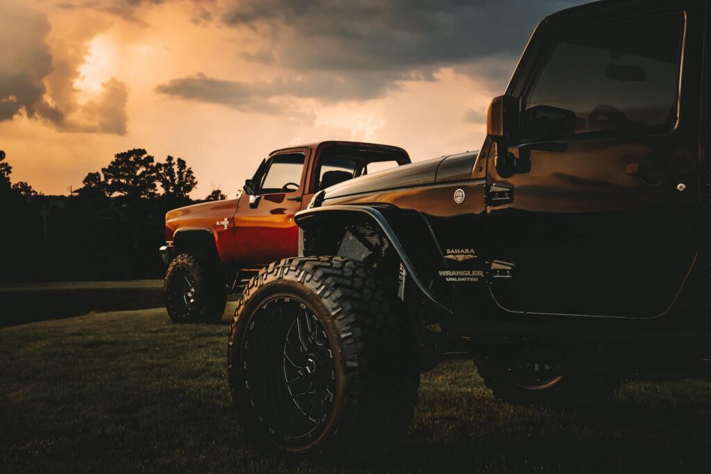
{"label": "whole dark tree line silhouetted left of the orange-red truck", "polygon": [[[117,153],[69,195],[43,195],[11,174],[0,151],[0,283],[160,278],[166,212],[201,202],[183,158],[156,162],[145,149]],[[204,200],[225,198],[218,188]]]}

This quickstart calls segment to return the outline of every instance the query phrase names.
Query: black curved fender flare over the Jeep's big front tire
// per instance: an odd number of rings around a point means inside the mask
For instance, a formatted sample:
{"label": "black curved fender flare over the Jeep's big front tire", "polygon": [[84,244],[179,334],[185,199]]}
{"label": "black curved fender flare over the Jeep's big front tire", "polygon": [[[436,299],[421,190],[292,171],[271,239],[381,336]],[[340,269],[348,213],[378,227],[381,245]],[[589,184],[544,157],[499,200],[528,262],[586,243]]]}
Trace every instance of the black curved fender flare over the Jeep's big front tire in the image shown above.
{"label": "black curved fender flare over the Jeep's big front tire", "polygon": [[[412,278],[412,281],[417,286],[417,289],[423,296],[425,296],[431,303],[434,303],[442,311],[445,311],[449,315],[453,314],[450,308],[448,308],[444,303],[439,301],[439,298],[435,296],[432,291],[427,289],[422,281],[422,271],[417,271],[415,264],[413,264],[412,259],[407,256],[405,248],[402,245],[400,238],[397,237],[395,230],[393,230],[390,222],[385,218],[385,213],[398,212],[399,209],[392,206],[383,205],[331,205],[324,208],[311,208],[297,212],[294,216],[294,222],[299,226],[299,255],[304,257],[304,235],[305,232],[319,227],[326,220],[345,220],[346,222],[351,222],[355,220],[356,217],[369,222],[371,225],[375,225],[383,232],[383,235],[387,237],[395,249],[397,255],[400,257],[400,262],[405,266],[405,270]],[[355,216],[354,214],[357,214]],[[345,218],[345,219],[343,219]],[[432,231],[429,230],[430,239],[434,238],[432,236]]]}

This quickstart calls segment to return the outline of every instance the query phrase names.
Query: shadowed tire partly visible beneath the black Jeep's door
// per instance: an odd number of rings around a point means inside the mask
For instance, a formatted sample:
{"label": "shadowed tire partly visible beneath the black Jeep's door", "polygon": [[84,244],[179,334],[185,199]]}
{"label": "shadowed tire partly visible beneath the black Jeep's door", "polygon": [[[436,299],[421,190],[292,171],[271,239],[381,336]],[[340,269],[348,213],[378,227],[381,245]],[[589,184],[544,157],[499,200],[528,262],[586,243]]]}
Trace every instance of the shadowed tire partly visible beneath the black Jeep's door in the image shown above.
{"label": "shadowed tire partly visible beneath the black Jeep's door", "polygon": [[515,367],[478,363],[479,375],[494,396],[513,404],[575,407],[599,404],[614,395],[619,379],[597,373],[526,362]]}

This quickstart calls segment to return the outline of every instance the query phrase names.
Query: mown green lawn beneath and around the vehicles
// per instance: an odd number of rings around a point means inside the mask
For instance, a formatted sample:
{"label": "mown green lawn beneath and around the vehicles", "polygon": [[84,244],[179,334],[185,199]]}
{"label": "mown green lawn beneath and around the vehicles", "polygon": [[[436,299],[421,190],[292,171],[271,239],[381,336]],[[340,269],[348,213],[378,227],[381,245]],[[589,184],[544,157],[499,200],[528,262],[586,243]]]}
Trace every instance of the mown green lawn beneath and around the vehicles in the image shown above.
{"label": "mown green lawn beneath and around the vehicles", "polygon": [[0,329],[0,471],[709,470],[709,382],[635,382],[595,409],[550,411],[493,399],[471,362],[422,377],[410,434],[383,463],[284,465],[235,421],[227,321],[144,310]]}

